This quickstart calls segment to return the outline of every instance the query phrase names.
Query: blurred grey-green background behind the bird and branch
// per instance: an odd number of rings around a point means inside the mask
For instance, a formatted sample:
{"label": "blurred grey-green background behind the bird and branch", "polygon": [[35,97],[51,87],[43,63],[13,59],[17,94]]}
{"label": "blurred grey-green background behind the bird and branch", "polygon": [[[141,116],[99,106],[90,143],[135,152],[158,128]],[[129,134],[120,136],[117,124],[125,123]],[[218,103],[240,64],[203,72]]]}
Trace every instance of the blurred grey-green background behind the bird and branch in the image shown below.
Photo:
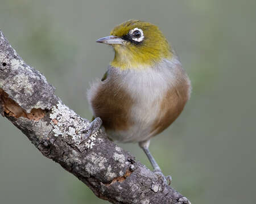
{"label": "blurred grey-green background behind the bird and branch", "polygon": [[[192,203],[255,203],[255,0],[0,2],[11,45],[85,118],[89,82],[114,56],[95,41],[127,19],[158,25],[192,80],[184,112],[151,141],[164,174]],[[1,204],[108,203],[2,117],[0,136]],[[151,168],[137,145],[121,146]]]}

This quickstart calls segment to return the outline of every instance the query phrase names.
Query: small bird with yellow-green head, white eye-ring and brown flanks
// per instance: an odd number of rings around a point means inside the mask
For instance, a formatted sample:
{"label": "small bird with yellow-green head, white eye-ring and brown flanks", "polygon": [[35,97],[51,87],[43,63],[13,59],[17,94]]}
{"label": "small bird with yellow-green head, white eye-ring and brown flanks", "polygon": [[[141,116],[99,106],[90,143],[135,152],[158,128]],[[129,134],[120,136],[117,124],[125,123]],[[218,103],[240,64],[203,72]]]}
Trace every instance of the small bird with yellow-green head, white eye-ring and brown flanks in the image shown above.
{"label": "small bird with yellow-green head, white eye-ring and brown flanks", "polygon": [[179,116],[191,95],[191,81],[160,29],[142,20],[127,20],[96,42],[114,49],[102,79],[87,97],[93,112],[88,134],[101,126],[112,141],[138,143],[154,172],[164,177],[149,151],[150,139]]}

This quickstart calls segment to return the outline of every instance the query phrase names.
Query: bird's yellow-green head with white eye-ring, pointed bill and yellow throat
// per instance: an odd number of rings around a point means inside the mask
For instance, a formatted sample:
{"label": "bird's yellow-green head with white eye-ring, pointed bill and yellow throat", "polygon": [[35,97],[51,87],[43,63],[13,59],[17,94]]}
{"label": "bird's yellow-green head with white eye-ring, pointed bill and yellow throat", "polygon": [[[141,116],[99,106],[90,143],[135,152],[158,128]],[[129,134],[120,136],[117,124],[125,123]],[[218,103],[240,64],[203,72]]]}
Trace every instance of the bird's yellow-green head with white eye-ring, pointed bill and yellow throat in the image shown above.
{"label": "bird's yellow-green head with white eye-ring, pointed bill and yellow throat", "polygon": [[96,42],[113,46],[115,57],[111,65],[122,70],[143,69],[172,57],[168,41],[159,28],[140,20],[128,20],[119,24],[110,36],[102,37]]}

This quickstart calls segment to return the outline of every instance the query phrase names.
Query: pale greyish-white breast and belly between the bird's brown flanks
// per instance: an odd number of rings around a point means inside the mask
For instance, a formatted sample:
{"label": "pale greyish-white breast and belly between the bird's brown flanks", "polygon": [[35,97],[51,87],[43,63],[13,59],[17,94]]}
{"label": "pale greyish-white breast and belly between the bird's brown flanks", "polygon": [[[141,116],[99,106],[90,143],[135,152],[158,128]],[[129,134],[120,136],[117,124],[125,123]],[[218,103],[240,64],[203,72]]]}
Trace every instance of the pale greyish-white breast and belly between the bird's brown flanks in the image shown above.
{"label": "pale greyish-white breast and belly between the bird's brown flanks", "polygon": [[[164,59],[155,67],[142,70],[119,70],[110,67],[109,73],[118,74],[119,83],[133,97],[130,118],[134,125],[127,131],[109,131],[112,139],[121,142],[139,142],[151,137],[150,131],[158,117],[160,103],[170,88],[175,86],[175,73],[180,62],[177,58]],[[179,68],[180,69],[180,68]],[[111,77],[111,76],[110,76]]]}

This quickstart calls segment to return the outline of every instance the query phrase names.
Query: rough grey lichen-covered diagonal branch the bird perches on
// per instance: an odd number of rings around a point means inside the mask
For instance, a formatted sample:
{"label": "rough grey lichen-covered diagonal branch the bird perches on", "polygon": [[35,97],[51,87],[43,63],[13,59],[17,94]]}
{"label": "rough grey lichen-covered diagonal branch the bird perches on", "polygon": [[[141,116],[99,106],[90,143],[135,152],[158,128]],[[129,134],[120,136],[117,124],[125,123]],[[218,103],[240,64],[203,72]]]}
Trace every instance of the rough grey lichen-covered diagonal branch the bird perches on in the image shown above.
{"label": "rough grey lichen-covered diagonal branch the bird perches on", "polygon": [[54,91],[0,31],[0,111],[44,156],[112,203],[190,203],[103,131],[84,141],[81,130],[89,121],[65,106]]}

